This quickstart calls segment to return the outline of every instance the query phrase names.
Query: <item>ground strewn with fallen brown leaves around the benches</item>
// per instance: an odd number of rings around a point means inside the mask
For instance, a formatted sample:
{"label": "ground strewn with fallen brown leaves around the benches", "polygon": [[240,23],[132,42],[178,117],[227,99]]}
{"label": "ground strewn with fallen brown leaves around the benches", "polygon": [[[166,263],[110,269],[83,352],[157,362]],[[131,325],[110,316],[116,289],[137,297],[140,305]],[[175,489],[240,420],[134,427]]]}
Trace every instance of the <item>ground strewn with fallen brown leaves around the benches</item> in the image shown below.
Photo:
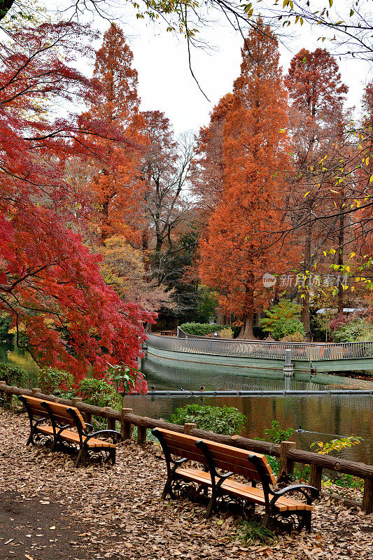
{"label": "ground strewn with fallen brown leaves around the benches", "polygon": [[[7,517],[1,510],[8,501],[0,502],[1,558],[55,560],[57,551],[61,560],[342,560],[373,554],[373,514],[323,498],[311,535],[280,535],[272,545],[245,547],[237,538],[238,517],[227,512],[204,519],[204,505],[160,499],[166,469],[159,447],[124,442],[115,467],[75,469],[68,456],[26,447],[27,435],[25,414],[0,411],[0,493],[17,492]],[[44,512],[44,521],[22,521],[22,505],[32,505],[35,515]]]}

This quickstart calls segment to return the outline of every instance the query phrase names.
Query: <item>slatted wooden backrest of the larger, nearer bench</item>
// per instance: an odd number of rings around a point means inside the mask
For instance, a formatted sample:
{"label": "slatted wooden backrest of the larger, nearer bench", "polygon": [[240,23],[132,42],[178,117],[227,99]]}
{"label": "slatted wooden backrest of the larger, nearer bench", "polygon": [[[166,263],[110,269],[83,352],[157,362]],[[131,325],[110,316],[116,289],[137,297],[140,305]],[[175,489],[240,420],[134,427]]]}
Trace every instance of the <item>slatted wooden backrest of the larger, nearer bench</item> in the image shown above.
{"label": "slatted wooden backrest of the larger, nearer bench", "polygon": [[[163,428],[157,428],[157,432],[162,434],[172,455],[186,457],[207,466],[204,451],[196,445],[196,442],[204,442],[216,468],[232,471],[257,482],[261,482],[265,477],[268,484],[276,484],[276,478],[265,455]],[[249,456],[253,458],[250,459]]]}

